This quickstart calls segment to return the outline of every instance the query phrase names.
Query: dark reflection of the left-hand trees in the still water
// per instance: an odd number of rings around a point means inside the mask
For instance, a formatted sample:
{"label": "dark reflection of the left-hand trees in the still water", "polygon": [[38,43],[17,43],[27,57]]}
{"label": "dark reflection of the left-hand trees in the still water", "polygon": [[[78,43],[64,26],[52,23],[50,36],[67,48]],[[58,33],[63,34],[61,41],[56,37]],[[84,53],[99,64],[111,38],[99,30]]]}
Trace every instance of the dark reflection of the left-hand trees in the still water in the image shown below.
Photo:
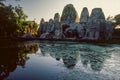
{"label": "dark reflection of the left-hand trees in the still water", "polygon": [[26,61],[29,59],[27,54],[35,53],[37,50],[38,45],[36,44],[0,47],[0,80],[8,77],[10,72],[13,72],[17,66],[24,68]]}

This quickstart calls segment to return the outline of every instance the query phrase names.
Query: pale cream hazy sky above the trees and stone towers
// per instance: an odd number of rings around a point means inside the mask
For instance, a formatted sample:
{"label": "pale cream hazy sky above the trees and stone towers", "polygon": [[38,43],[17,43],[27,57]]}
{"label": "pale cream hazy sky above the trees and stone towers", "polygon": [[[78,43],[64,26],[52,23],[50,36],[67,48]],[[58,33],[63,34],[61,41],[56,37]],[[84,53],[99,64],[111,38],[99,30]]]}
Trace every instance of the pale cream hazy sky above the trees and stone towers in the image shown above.
{"label": "pale cream hazy sky above the trees and stone towers", "polygon": [[40,23],[41,18],[48,21],[54,18],[55,13],[62,14],[64,6],[73,4],[80,16],[83,7],[87,7],[89,13],[93,8],[102,8],[105,17],[120,14],[120,0],[6,0],[6,4],[20,5],[27,14],[28,19]]}

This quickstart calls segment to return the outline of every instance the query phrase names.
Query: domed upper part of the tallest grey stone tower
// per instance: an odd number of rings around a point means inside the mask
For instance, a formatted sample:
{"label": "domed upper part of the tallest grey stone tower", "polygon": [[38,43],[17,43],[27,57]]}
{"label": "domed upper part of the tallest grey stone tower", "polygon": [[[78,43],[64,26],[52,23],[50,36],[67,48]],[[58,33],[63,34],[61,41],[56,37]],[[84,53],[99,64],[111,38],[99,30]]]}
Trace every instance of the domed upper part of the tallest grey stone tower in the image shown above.
{"label": "domed upper part of the tallest grey stone tower", "polygon": [[78,13],[72,4],[68,4],[63,9],[61,23],[69,25],[75,22],[79,22]]}

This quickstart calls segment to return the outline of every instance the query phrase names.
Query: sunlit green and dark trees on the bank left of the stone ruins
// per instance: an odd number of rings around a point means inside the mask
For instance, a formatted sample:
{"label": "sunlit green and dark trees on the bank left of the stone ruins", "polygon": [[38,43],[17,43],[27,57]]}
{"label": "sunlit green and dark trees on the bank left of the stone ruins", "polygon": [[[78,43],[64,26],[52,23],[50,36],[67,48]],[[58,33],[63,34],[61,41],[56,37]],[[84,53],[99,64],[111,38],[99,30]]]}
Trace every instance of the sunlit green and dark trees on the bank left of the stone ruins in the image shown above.
{"label": "sunlit green and dark trees on the bank left of the stone ruins", "polygon": [[25,34],[26,26],[29,26],[33,34],[37,32],[35,21],[26,21],[22,7],[12,5],[6,6],[0,2],[0,37],[13,37]]}

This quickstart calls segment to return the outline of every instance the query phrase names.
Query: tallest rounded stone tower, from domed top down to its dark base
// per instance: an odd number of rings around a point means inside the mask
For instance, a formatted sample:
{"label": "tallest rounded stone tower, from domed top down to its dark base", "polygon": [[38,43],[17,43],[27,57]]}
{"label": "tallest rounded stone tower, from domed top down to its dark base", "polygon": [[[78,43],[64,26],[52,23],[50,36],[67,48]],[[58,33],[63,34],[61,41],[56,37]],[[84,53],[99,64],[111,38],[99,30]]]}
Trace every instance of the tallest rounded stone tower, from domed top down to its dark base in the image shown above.
{"label": "tallest rounded stone tower, from domed top down to its dark base", "polygon": [[72,4],[66,5],[61,16],[62,32],[66,38],[75,37],[76,29],[73,25],[77,22],[79,22],[79,17],[74,6]]}

